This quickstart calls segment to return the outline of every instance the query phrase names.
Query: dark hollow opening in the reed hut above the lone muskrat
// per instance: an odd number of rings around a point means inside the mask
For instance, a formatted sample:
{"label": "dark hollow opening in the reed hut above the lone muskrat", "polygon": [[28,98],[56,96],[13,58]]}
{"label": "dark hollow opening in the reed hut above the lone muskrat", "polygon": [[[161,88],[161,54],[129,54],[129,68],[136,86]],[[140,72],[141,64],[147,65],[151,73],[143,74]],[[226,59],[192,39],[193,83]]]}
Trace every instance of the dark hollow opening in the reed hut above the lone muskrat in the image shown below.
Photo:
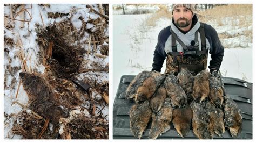
{"label": "dark hollow opening in the reed hut above the lone muskrat", "polygon": [[46,27],[37,27],[37,41],[43,49],[43,63],[48,66],[53,76],[71,78],[77,74],[85,49],[76,41],[82,36],[69,22],[62,22]]}

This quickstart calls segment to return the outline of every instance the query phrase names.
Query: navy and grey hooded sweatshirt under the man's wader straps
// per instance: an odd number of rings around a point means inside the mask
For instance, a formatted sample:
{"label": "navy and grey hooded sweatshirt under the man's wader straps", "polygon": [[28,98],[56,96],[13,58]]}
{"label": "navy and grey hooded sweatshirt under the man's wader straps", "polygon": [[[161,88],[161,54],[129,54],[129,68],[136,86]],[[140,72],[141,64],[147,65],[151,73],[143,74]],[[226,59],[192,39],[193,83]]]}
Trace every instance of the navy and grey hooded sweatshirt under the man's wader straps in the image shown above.
{"label": "navy and grey hooded sweatshirt under the man's wader straps", "polygon": [[[215,29],[208,24],[203,23],[204,25],[204,31],[205,31],[205,37],[206,37],[206,47],[209,49],[211,54],[211,61],[210,66],[208,66],[209,69],[218,69],[220,68],[221,62],[223,60],[224,56],[224,47],[221,45],[219,37]],[[182,38],[180,38],[185,45],[190,45],[190,39],[194,38],[195,30],[198,30],[200,23],[198,21],[197,16],[195,15],[192,19],[192,28],[187,33],[183,33],[182,31],[179,31],[178,27],[173,24],[173,20],[171,23],[171,26],[165,27],[163,30],[160,31],[158,35],[158,42],[156,49],[154,51],[154,58],[153,58],[153,68],[152,70],[161,71],[161,68],[163,67],[164,60],[166,59],[166,56],[168,52],[171,52],[171,31],[170,28],[172,27],[172,30],[178,35],[180,34]],[[187,36],[187,37],[186,37]],[[187,40],[187,41],[186,41]],[[200,38],[199,38],[200,40]],[[178,46],[178,44],[177,44]],[[177,49],[177,51],[183,51],[182,49]]]}

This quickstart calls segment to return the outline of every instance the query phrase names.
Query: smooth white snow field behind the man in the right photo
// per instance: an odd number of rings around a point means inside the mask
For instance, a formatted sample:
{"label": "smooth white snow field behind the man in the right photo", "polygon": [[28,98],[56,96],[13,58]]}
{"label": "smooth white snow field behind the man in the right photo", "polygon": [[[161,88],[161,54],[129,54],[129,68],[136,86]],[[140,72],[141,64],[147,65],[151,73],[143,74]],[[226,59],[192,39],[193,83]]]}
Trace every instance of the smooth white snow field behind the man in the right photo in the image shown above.
{"label": "smooth white snow field behind the man in the right photo", "polygon": [[[148,27],[144,20],[152,14],[145,15],[113,15],[113,100],[117,93],[122,75],[137,75],[143,70],[151,70],[153,51],[157,44],[159,32],[170,25],[171,19],[160,18],[157,26]],[[243,29],[212,25],[218,33],[230,35]],[[252,26],[246,27],[252,30]],[[224,58],[220,67],[226,77],[240,78],[252,82],[252,39],[235,37],[224,39]],[[210,62],[208,56],[208,63]],[[161,69],[164,73],[165,63]]]}

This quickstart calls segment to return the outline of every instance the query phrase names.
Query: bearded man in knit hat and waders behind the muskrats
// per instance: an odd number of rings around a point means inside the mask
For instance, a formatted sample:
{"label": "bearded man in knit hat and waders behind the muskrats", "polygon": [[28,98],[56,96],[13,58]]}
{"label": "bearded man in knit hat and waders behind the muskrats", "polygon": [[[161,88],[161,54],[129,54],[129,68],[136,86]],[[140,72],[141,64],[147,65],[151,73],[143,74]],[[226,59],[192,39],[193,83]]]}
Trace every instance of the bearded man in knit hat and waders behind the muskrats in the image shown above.
{"label": "bearded man in knit hat and waders behind the muskrats", "polygon": [[165,73],[187,68],[193,75],[206,69],[208,51],[211,54],[210,69],[219,70],[224,56],[217,32],[211,25],[200,23],[194,13],[195,4],[173,4],[172,22],[158,35],[152,70],[161,71],[165,58]]}

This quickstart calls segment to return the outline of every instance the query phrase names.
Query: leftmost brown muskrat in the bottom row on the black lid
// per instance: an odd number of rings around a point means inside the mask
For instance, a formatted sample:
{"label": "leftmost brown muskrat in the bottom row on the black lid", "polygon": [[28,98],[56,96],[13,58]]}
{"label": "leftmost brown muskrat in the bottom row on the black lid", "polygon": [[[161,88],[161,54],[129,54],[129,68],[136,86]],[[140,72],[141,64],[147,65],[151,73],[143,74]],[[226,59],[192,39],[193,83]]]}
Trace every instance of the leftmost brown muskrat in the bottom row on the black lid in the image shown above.
{"label": "leftmost brown muskrat in the bottom row on the black lid", "polygon": [[134,137],[140,139],[147,123],[151,118],[152,111],[149,106],[149,101],[143,103],[136,103],[130,110],[130,128]]}

